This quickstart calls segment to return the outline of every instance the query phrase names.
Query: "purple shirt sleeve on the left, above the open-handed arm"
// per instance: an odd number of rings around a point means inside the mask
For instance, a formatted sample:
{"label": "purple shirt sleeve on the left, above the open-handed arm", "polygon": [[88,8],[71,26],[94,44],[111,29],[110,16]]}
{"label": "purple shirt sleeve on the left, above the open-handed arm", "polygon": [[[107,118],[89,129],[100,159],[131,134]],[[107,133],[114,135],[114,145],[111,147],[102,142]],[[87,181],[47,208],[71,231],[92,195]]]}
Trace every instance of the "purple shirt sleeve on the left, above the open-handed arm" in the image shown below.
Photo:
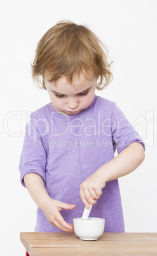
{"label": "purple shirt sleeve on the left, above the open-handed arm", "polygon": [[46,152],[42,143],[42,137],[34,125],[33,120],[29,120],[25,129],[24,145],[20,156],[20,181],[25,187],[24,176],[28,173],[37,173],[46,183],[45,166]]}

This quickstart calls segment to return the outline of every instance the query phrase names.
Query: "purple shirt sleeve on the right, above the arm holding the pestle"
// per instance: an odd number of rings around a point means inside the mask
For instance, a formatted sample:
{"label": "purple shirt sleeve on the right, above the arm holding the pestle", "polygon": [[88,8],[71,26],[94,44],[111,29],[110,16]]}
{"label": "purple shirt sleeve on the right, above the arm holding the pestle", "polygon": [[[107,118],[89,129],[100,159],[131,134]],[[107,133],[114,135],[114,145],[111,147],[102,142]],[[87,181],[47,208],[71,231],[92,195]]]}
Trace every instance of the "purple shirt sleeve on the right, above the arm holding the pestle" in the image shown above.
{"label": "purple shirt sleeve on the right, above the arm holding the pestle", "polygon": [[112,115],[112,137],[113,137],[113,146],[117,152],[120,153],[133,142],[142,143],[145,150],[145,145],[139,134],[133,129],[132,124],[128,122],[123,112],[114,106],[113,115]]}

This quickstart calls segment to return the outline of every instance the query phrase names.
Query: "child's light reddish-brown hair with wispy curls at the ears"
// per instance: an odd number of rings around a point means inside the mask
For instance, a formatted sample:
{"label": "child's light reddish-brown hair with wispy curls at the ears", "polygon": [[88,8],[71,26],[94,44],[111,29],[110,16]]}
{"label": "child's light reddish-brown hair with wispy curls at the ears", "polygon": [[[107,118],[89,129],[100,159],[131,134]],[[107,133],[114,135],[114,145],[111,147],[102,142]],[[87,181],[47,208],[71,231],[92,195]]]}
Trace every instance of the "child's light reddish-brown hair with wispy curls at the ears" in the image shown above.
{"label": "child's light reddish-brown hair with wispy curls at the ears", "polygon": [[[31,65],[32,78],[46,89],[44,75],[50,77],[50,82],[65,76],[72,83],[74,76],[80,73],[88,75],[93,71],[100,78],[97,89],[102,90],[113,78],[109,70],[112,62],[107,62],[105,52],[105,46],[88,27],[60,21],[38,43]],[[40,80],[41,76],[43,80]]]}

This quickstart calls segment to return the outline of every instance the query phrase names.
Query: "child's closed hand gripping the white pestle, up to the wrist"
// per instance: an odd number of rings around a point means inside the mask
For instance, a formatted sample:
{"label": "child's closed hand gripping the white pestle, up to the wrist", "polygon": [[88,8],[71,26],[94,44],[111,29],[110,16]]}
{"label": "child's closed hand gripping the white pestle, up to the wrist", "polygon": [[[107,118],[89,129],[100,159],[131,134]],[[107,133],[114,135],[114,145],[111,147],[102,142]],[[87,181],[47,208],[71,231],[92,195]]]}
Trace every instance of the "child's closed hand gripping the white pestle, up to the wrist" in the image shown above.
{"label": "child's closed hand gripping the white pestle, up to the wrist", "polygon": [[97,203],[97,199],[102,194],[102,188],[105,186],[106,182],[99,174],[92,174],[81,183],[79,194],[87,209],[90,208],[90,204]]}

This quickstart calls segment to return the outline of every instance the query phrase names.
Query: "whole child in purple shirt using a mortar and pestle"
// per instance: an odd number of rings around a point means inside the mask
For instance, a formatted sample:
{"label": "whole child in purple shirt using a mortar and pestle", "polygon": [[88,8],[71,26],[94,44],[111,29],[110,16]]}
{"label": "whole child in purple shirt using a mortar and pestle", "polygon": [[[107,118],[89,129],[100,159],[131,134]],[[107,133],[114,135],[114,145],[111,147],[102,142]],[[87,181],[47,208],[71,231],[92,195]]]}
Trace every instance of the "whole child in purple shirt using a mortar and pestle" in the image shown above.
{"label": "whole child in purple shirt using a mortar and pestle", "polygon": [[102,47],[72,22],[58,22],[38,43],[32,76],[51,103],[31,114],[20,157],[37,232],[73,232],[89,203],[105,232],[125,232],[118,178],[142,163],[144,143],[115,103],[95,95],[112,78]]}

